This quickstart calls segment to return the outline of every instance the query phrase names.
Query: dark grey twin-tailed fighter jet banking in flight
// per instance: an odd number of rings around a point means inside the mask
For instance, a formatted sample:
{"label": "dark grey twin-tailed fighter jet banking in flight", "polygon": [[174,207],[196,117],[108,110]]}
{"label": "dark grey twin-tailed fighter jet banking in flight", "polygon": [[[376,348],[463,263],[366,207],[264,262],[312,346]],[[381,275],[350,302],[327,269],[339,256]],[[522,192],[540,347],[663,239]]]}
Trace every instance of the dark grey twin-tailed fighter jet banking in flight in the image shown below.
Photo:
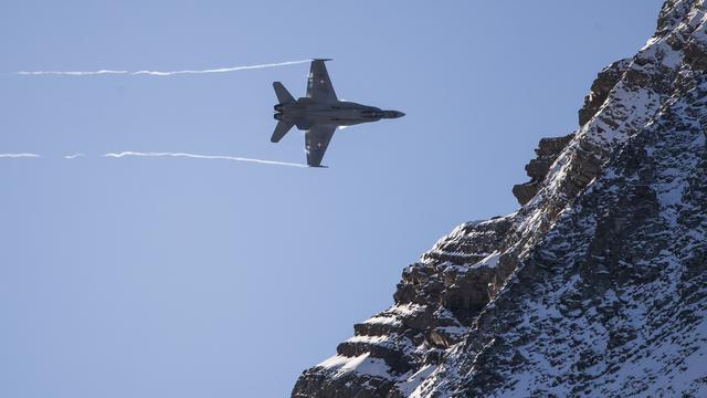
{"label": "dark grey twin-tailed fighter jet banking in flight", "polygon": [[337,127],[405,115],[398,111],[381,111],[374,106],[339,101],[324,65],[326,61],[331,60],[312,61],[306,97],[295,100],[281,82],[273,83],[278,101],[274,117],[278,122],[270,140],[279,142],[293,126],[306,130],[305,151],[310,167],[325,167],[321,166],[321,158]]}

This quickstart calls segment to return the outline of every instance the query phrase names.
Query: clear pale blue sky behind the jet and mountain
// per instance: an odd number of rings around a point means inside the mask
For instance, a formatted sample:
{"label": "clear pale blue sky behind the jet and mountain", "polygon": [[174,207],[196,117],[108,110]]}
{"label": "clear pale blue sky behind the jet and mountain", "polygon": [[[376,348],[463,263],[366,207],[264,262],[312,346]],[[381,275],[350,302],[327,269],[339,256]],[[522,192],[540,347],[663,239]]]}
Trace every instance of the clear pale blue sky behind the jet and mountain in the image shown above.
{"label": "clear pale blue sky behind the jet and mountain", "polygon": [[[0,396],[282,397],[454,226],[517,208],[542,136],[662,1],[0,3]],[[270,143],[271,83],[17,76],[334,57],[339,97],[407,113],[337,133],[328,169]],[[72,153],[87,156],[73,160]]]}

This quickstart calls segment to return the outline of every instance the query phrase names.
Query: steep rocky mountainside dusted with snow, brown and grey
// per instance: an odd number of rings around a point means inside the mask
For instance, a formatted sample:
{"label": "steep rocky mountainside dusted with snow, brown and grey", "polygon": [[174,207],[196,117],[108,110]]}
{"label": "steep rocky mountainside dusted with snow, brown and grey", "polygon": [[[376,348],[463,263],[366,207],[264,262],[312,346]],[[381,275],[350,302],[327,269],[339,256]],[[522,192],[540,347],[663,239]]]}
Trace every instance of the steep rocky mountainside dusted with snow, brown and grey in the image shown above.
{"label": "steep rocky mountainside dusted with snow, brown and grey", "polygon": [[707,0],[666,1],[580,124],[293,397],[707,396]]}

